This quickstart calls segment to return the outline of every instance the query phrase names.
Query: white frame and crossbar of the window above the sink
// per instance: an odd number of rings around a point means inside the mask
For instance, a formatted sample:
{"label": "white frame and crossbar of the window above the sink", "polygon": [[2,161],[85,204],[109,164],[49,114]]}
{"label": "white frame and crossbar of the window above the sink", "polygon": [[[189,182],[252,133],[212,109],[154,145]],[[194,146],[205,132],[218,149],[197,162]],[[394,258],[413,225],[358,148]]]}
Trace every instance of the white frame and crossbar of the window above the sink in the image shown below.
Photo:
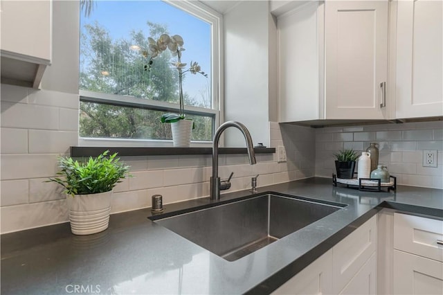
{"label": "white frame and crossbar of the window above the sink", "polygon": [[[222,15],[219,12],[209,8],[199,1],[170,1],[161,0],[168,3],[184,12],[206,21],[210,24],[211,40],[210,40],[210,61],[211,61],[211,81],[210,88],[212,92],[212,109],[206,109],[204,107],[195,107],[186,105],[185,113],[192,115],[209,116],[213,118],[213,134],[221,123],[223,118],[223,75],[222,73],[222,51],[223,42],[221,28]],[[152,109],[165,112],[178,112],[179,104],[172,102],[165,102],[159,100],[147,100],[142,98],[136,98],[134,96],[120,96],[117,94],[100,93],[94,91],[87,91],[79,89],[80,102],[96,102],[101,104],[109,104],[122,107],[136,107],[141,109]],[[79,113],[80,116],[80,113]],[[80,126],[79,126],[80,127]],[[212,141],[191,141],[192,145],[209,146]],[[172,140],[164,139],[137,139],[137,138],[93,138],[93,137],[81,137],[78,141],[80,146],[172,146]]]}

